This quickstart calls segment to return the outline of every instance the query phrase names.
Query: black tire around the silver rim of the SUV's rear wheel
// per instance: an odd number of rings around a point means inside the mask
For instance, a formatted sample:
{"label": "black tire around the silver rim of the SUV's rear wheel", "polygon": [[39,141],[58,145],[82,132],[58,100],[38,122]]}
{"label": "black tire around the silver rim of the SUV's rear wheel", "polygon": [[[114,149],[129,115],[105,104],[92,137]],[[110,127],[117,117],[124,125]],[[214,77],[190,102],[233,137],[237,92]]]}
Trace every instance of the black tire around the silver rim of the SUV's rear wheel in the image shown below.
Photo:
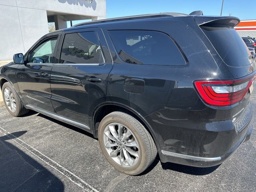
{"label": "black tire around the silver rim of the SUV's rear wheel", "polygon": [[[115,122],[121,123],[132,132],[140,148],[138,162],[130,168],[126,168],[116,163],[110,157],[104,145],[104,129],[106,126],[108,126],[108,124]],[[154,140],[146,128],[134,117],[123,112],[112,112],[102,119],[98,128],[98,140],[100,143],[100,148],[108,162],[118,171],[128,175],[138,175],[144,172],[144,170],[146,170],[150,164],[152,164],[157,155]]]}

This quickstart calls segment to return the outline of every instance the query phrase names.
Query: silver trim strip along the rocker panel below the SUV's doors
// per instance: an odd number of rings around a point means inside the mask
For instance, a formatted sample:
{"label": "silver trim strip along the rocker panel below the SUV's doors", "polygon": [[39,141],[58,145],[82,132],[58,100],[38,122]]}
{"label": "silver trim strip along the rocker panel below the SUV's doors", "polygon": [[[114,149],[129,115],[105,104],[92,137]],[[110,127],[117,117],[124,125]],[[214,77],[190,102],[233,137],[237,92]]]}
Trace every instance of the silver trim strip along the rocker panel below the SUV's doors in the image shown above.
{"label": "silver trim strip along the rocker panel below the SUV's doors", "polygon": [[42,110],[40,108],[37,108],[37,107],[34,107],[34,106],[31,106],[31,105],[26,105],[26,108],[28,109],[31,109],[31,110],[34,110],[38,113],[42,113],[46,116],[49,116],[51,118],[54,118],[56,120],[59,120],[59,121],[62,121],[64,123],[67,123],[67,124],[70,124],[70,125],[73,125],[73,126],[77,126],[77,127],[80,127],[80,128],[85,128],[85,129],[89,129],[90,128],[88,126],[86,126],[85,124],[82,124],[82,123],[79,123],[79,122],[76,122],[76,121],[73,121],[73,120],[70,120],[68,118],[65,118],[65,117],[62,117],[62,116],[59,116],[57,114],[53,114],[53,113],[50,113],[48,111],[45,111],[45,110]]}

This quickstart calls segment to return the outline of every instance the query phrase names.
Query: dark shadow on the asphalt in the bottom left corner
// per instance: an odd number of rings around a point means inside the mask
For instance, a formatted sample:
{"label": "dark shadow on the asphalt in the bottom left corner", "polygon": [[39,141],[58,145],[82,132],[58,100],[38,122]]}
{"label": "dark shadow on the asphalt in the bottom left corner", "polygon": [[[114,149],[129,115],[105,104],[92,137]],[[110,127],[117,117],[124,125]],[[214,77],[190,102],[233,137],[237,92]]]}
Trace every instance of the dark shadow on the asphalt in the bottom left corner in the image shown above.
{"label": "dark shadow on the asphalt in the bottom left corner", "polygon": [[64,184],[44,166],[8,142],[26,131],[0,136],[0,191],[64,191]]}

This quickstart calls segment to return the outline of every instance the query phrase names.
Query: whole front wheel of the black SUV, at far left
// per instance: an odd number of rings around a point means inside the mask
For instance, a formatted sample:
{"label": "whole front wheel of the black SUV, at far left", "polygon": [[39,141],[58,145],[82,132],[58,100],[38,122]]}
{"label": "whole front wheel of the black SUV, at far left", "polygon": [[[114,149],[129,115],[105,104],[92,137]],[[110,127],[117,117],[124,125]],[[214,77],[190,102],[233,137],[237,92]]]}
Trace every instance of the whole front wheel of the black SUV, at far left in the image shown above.
{"label": "whole front wheel of the black SUV, at far left", "polygon": [[24,107],[18,94],[9,82],[3,84],[2,96],[4,104],[12,116],[18,117],[28,113],[28,109]]}

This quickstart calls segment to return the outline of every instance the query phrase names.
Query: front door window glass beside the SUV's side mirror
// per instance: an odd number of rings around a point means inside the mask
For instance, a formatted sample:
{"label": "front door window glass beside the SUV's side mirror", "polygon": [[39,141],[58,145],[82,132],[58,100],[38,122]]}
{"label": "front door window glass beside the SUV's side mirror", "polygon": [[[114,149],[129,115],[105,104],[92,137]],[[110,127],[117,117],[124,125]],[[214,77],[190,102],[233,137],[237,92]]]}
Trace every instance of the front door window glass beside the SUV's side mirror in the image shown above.
{"label": "front door window glass beside the SUV's side mirror", "polygon": [[46,40],[37,46],[29,55],[29,63],[52,63],[54,48],[56,46],[57,37]]}

